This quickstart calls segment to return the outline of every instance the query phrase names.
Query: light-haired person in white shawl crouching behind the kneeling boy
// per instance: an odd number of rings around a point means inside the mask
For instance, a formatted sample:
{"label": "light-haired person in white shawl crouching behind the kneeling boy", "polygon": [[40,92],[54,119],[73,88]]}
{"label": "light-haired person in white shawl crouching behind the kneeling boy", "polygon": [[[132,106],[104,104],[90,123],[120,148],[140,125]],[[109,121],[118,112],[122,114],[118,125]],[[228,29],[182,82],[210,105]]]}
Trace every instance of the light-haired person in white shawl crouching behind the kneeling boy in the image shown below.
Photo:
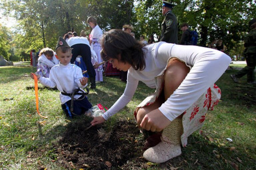
{"label": "light-haired person in white shawl crouching behind the kneeling boy", "polygon": [[51,68],[58,63],[59,60],[54,55],[54,51],[51,48],[43,48],[39,53],[38,69],[36,74],[43,77],[49,77]]}

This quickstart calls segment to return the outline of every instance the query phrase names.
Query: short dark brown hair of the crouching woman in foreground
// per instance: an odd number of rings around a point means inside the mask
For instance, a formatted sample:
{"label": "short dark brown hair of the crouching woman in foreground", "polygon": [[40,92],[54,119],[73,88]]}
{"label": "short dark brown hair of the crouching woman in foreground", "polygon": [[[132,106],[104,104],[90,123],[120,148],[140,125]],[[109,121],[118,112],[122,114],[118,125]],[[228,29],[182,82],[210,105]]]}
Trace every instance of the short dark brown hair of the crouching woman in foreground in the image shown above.
{"label": "short dark brown hair of the crouching woman in foreground", "polygon": [[[122,30],[110,30],[101,39],[101,57],[104,61],[110,58],[129,63],[135,70],[145,68],[145,58],[142,51],[143,43],[135,40],[129,33]],[[119,58],[118,55],[121,54]]]}

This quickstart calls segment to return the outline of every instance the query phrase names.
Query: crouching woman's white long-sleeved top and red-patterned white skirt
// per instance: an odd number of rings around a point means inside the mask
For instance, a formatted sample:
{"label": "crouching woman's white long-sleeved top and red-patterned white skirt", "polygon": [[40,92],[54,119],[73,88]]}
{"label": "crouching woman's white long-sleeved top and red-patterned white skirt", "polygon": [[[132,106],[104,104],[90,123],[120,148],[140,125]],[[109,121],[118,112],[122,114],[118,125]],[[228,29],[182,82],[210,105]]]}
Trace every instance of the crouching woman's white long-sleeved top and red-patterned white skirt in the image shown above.
{"label": "crouching woman's white long-sleeved top and red-patterned white skirt", "polygon": [[142,50],[146,62],[145,69],[135,70],[130,67],[123,95],[104,113],[103,118],[107,120],[130,102],[139,81],[150,88],[156,88],[156,92],[148,96],[138,107],[152,104],[163,90],[167,63],[170,59],[177,58],[191,70],[158,109],[170,121],[183,114],[181,142],[186,146],[187,137],[203,125],[207,109],[213,109],[213,106],[217,105],[221,92],[214,83],[227,69],[231,59],[215,49],[166,42],[153,43]]}

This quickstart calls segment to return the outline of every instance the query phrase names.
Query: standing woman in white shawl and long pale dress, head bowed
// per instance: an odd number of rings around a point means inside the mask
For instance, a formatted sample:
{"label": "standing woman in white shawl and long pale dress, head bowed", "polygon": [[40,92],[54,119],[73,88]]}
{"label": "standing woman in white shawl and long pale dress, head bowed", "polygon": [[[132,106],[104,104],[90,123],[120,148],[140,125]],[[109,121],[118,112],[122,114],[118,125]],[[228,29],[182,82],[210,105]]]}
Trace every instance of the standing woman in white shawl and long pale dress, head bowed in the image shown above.
{"label": "standing woman in white shawl and long pale dress, head bowed", "polygon": [[[93,48],[93,50],[96,52],[97,54],[97,62],[101,63],[103,60],[100,56],[100,51],[101,51],[101,45],[99,43],[101,37],[102,37],[102,30],[100,29],[100,27],[97,24],[97,21],[95,18],[93,17],[89,17],[87,19],[87,23],[89,24],[89,26],[92,28],[91,34],[90,34],[90,44]],[[96,71],[96,76],[95,76],[95,80],[96,82],[102,82],[103,81],[103,65],[100,65],[97,69],[95,69]]]}

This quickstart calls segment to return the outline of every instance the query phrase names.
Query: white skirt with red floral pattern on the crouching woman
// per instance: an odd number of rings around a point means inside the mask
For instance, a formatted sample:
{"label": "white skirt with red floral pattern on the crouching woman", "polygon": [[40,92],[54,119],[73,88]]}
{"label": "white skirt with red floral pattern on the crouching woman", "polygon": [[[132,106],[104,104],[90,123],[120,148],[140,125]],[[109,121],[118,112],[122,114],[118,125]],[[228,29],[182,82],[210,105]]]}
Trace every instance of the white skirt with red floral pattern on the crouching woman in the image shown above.
{"label": "white skirt with red floral pattern on the crouching woman", "polygon": [[[149,95],[136,107],[134,111],[135,119],[137,115],[137,109],[139,107],[153,104],[161,94],[164,87],[164,74],[157,76],[155,78],[155,83],[155,93]],[[220,88],[216,84],[213,84],[198,98],[195,103],[193,103],[185,112],[183,112],[183,134],[181,135],[182,146],[185,147],[187,145],[187,138],[190,134],[203,126],[207,110],[213,110],[213,107],[218,104],[220,97]]]}

